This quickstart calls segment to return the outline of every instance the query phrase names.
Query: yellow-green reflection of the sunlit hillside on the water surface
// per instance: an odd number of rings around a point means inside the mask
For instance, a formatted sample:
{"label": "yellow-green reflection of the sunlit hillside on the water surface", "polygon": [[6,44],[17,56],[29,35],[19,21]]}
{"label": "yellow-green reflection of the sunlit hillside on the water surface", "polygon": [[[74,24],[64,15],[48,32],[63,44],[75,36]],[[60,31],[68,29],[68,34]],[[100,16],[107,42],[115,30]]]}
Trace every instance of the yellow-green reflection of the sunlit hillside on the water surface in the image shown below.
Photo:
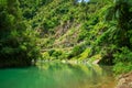
{"label": "yellow-green reflection of the sunlit hillside on the water surface", "polygon": [[[101,81],[109,81],[107,76],[110,72],[103,70],[98,65],[84,64],[63,64],[63,63],[43,63],[40,67],[46,76],[56,82],[62,82],[59,86],[68,84],[73,86],[81,85],[99,85]],[[107,80],[106,80],[107,79]]]}

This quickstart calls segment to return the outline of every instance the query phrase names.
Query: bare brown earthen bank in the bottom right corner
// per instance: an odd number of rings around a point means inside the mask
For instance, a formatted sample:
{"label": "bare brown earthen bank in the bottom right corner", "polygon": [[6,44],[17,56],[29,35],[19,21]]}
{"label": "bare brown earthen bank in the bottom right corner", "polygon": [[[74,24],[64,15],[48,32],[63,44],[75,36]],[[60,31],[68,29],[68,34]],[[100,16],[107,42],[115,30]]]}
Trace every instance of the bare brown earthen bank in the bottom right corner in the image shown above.
{"label": "bare brown earthen bank in the bottom right corner", "polygon": [[120,75],[118,77],[118,85],[116,88],[132,88],[132,72]]}

